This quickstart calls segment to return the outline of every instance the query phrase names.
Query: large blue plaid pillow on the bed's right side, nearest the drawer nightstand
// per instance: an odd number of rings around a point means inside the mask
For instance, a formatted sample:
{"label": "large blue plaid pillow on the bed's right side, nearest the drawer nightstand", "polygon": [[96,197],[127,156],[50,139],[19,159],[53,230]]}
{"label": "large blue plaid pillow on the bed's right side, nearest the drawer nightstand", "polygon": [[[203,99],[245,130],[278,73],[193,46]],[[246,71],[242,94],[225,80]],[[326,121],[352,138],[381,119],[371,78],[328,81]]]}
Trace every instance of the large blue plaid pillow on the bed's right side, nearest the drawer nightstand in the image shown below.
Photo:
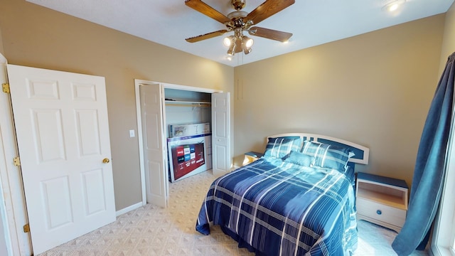
{"label": "large blue plaid pillow on the bed's right side, nearest the drawer nightstand", "polygon": [[301,152],[314,156],[314,166],[336,169],[341,172],[346,171],[345,167],[348,164],[348,160],[350,156],[353,156],[353,152],[350,149],[310,141],[304,142]]}

